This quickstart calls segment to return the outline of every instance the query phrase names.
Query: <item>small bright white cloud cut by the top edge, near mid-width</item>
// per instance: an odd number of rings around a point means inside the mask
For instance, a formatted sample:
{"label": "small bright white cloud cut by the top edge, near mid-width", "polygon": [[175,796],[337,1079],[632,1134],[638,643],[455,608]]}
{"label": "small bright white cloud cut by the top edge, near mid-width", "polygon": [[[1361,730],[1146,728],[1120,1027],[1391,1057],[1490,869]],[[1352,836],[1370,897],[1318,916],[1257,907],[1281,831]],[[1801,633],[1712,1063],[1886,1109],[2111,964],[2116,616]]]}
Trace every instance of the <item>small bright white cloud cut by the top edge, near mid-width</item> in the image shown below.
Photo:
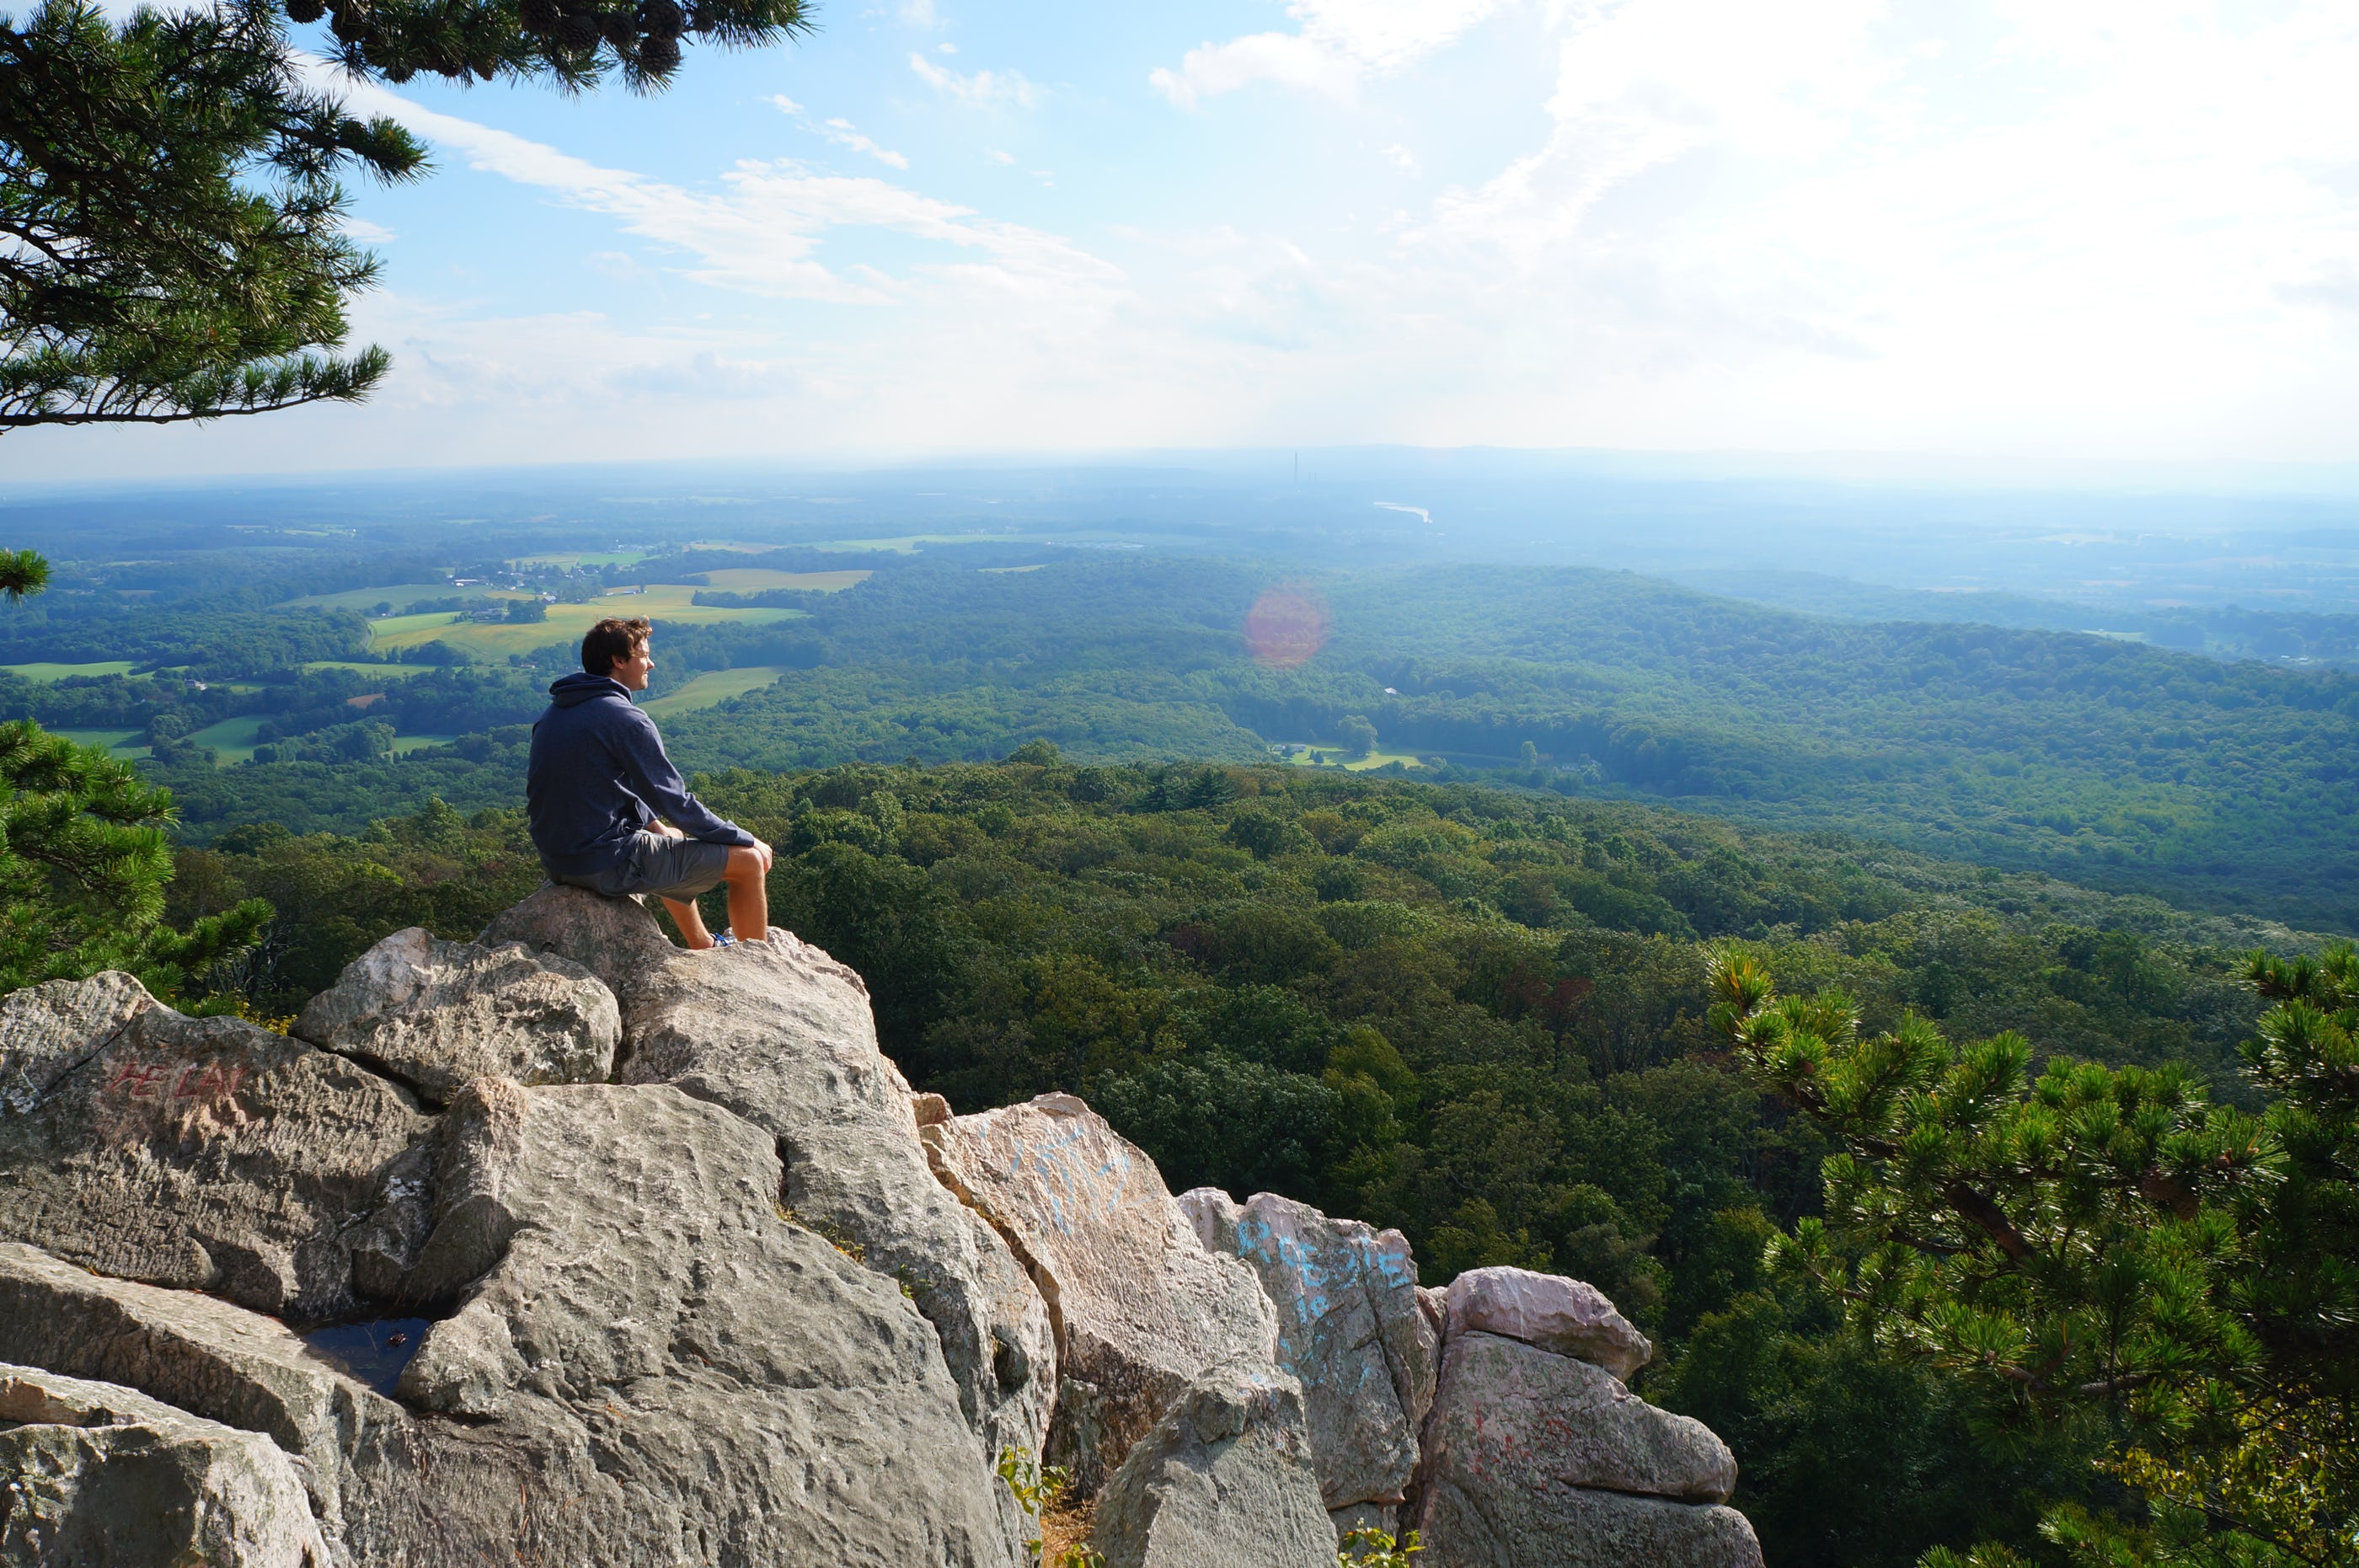
{"label": "small bright white cloud cut by the top edge, near mid-width", "polygon": [[1250,83],[1349,97],[1364,78],[1392,75],[1458,42],[1498,5],[1500,0],[1295,0],[1286,9],[1300,31],[1205,42],[1189,50],[1177,71],[1156,66],[1146,80],[1182,108]]}

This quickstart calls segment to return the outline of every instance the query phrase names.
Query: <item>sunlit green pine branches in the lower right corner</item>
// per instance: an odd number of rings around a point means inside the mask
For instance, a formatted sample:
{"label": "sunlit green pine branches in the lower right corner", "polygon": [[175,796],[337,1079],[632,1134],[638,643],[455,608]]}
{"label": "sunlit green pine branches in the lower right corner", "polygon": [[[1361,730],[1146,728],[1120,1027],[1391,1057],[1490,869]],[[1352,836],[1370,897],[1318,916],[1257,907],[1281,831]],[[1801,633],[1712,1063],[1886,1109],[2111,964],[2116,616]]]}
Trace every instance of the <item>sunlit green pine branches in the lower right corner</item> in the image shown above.
{"label": "sunlit green pine branches in the lower right corner", "polygon": [[2359,1561],[2359,955],[2243,979],[2274,1002],[2243,1047],[2258,1115],[2168,1063],[2036,1066],[2012,1033],[1861,1037],[1840,990],[1710,960],[1736,1059],[1840,1144],[1772,1266],[1979,1389],[1989,1443],[2100,1445],[2133,1502],[2052,1511],[2071,1561]]}

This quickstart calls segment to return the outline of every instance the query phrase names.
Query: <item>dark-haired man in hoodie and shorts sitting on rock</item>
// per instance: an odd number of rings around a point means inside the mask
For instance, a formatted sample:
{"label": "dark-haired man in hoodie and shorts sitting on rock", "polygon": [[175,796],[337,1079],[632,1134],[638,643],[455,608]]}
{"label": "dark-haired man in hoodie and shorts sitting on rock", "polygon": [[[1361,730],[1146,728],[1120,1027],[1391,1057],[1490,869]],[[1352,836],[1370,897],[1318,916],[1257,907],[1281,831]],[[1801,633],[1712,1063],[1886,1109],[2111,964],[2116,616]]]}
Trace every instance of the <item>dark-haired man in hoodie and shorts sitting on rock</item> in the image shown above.
{"label": "dark-haired man in hoodie and shorts sitting on rock", "polygon": [[[620,898],[656,894],[691,948],[769,936],[769,844],[689,795],[656,722],[630,693],[656,667],[646,620],[602,620],[583,637],[583,672],[550,686],[533,724],[524,802],[550,882]],[[705,934],[696,896],[729,884],[729,931]]]}

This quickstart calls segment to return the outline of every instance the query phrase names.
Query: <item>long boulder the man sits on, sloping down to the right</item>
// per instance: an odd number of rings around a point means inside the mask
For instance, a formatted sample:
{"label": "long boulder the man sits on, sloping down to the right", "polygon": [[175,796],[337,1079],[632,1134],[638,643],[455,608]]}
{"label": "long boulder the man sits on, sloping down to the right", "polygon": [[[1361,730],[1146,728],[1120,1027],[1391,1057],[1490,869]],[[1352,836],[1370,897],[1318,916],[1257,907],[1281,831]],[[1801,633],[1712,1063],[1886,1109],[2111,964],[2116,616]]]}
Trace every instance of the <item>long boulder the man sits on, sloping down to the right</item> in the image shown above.
{"label": "long boulder the man sits on, sloping down to the right", "polygon": [[1047,1304],[1007,1243],[934,1181],[908,1080],[861,976],[788,931],[689,953],[627,898],[545,887],[481,941],[521,941],[623,1004],[620,1082],[672,1085],[764,1129],[783,1205],[911,1292],[986,1460],[1040,1452],[1057,1386]]}

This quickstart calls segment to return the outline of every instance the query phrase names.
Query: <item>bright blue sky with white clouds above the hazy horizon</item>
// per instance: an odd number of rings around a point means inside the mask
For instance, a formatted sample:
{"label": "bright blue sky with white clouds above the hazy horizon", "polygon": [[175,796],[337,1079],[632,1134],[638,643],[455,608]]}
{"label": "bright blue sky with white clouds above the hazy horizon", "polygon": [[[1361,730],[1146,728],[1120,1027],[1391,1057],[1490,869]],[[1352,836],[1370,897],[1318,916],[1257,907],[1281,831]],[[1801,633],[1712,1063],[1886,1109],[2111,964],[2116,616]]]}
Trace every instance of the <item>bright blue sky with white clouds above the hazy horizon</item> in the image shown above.
{"label": "bright blue sky with white clouds above the hazy horizon", "polygon": [[1170,446],[2359,460],[2338,0],[828,0],[351,90],[361,410],[21,479]]}

